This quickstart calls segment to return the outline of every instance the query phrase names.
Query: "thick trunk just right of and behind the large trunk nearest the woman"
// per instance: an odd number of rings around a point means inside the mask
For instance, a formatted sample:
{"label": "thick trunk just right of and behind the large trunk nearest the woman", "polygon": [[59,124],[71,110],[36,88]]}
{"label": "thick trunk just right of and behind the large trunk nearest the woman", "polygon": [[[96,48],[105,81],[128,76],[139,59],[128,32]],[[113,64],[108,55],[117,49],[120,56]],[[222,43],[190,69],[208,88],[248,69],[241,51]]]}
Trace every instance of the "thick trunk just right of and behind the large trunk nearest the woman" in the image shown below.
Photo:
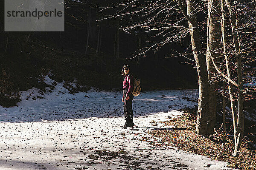
{"label": "thick trunk just right of and behind the large trunk nearest the woman", "polygon": [[[215,10],[212,10],[211,14],[209,14],[210,6]],[[219,62],[219,53],[218,49],[220,48],[221,42],[221,18],[219,14],[221,12],[221,6],[218,0],[208,0],[208,19],[209,28],[209,45],[207,45],[207,71],[209,78],[209,112],[208,112],[208,124],[207,124],[207,134],[211,135],[213,133],[216,121],[216,108],[217,108],[217,89],[218,89],[218,81],[215,79],[215,74],[217,73],[212,59],[209,54],[209,46],[212,51],[212,57],[215,63]],[[207,42],[208,43],[208,42]]]}

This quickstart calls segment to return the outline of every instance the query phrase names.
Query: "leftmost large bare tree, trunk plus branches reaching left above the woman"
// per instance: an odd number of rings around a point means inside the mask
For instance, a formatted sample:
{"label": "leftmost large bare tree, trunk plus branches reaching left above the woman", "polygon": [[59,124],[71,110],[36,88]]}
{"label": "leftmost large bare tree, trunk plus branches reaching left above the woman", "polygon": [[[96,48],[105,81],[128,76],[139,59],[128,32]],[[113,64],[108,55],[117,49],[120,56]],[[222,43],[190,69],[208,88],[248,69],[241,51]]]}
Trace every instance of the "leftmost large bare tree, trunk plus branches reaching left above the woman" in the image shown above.
{"label": "leftmost large bare tree, trunk plus branches reaching left above the woman", "polygon": [[[209,103],[209,83],[207,74],[207,64],[205,59],[205,51],[202,49],[199,26],[197,20],[198,5],[196,1],[187,0],[186,11],[180,0],[177,1],[167,0],[166,2],[154,1],[147,2],[146,4],[140,4],[138,1],[126,0],[122,3],[116,4],[115,8],[120,8],[116,14],[106,17],[109,19],[113,17],[121,17],[127,19],[131,25],[123,28],[123,31],[131,31],[140,28],[140,31],[151,32],[151,38],[157,39],[161,37],[160,42],[153,41],[153,44],[148,47],[140,48],[138,54],[134,57],[138,57],[140,62],[140,55],[145,54],[147,51],[154,49],[157,51],[163,45],[169,42],[177,42],[190,33],[193,57],[198,72],[198,86],[199,86],[199,98],[198,98],[198,118],[196,131],[198,134],[207,136],[207,113]],[[199,4],[199,7],[202,8]],[[129,7],[129,8],[128,8]],[[102,10],[113,8],[106,7]],[[180,12],[184,15],[181,16]],[[188,13],[188,14],[187,14]],[[130,18],[129,18],[130,16]],[[132,17],[140,18],[136,22],[133,22]],[[184,19],[188,20],[189,28],[184,24]],[[103,19],[102,19],[103,20]],[[158,40],[159,40],[158,39]],[[194,61],[193,59],[189,59]]]}

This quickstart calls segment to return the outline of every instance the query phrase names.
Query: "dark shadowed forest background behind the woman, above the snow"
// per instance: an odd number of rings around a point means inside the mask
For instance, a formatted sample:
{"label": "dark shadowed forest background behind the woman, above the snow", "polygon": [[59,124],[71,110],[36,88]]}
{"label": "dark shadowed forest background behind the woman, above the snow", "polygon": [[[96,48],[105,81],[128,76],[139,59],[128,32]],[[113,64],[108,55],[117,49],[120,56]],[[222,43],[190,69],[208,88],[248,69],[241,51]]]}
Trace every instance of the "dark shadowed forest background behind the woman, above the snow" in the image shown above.
{"label": "dark shadowed forest background behind the woman, above the snow", "polygon": [[[65,0],[64,32],[5,32],[4,5],[1,12],[0,41],[0,94],[1,105],[15,105],[17,91],[26,91],[33,87],[44,90],[47,86],[38,82],[49,71],[57,82],[73,81],[74,77],[81,85],[101,89],[122,88],[121,69],[125,64],[131,66],[134,77],[141,79],[143,91],[170,88],[197,88],[197,73],[188,59],[177,54],[190,50],[190,39],[183,42],[166,43],[154,53],[147,51],[141,57],[129,59],[138,54],[140,47],[146,47],[151,41],[144,31],[122,31],[128,19],[117,22],[110,18],[101,20],[113,11],[99,12],[100,6],[108,6],[108,1],[72,1]],[[98,6],[98,7],[97,7]],[[104,14],[105,12],[105,14]],[[88,24],[91,20],[88,51]],[[136,19],[134,19],[136,20]],[[115,38],[119,28],[119,58],[116,59]],[[96,55],[100,28],[100,52]],[[157,41],[157,39],[156,39]],[[193,56],[186,56],[193,58]]]}

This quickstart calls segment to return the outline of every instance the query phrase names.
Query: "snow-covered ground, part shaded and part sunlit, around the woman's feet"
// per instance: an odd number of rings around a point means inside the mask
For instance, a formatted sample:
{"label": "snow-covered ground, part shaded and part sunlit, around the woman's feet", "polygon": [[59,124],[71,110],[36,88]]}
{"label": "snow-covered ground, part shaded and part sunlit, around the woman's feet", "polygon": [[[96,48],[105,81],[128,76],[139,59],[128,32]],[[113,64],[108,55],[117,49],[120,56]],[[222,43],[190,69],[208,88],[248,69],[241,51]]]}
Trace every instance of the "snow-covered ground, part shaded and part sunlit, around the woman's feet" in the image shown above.
{"label": "snow-covered ground, part shaded and part sunlit, around the woman's feet", "polygon": [[[140,140],[154,140],[148,130],[172,128],[150,122],[179,116],[177,110],[196,105],[183,99],[196,97],[195,90],[148,91],[134,97],[136,127],[122,129],[122,92],[73,95],[63,82],[49,77],[46,82],[57,84],[51,93],[32,88],[22,92],[18,106],[0,107],[0,170],[230,170],[225,162]],[[29,94],[44,98],[33,100]]]}

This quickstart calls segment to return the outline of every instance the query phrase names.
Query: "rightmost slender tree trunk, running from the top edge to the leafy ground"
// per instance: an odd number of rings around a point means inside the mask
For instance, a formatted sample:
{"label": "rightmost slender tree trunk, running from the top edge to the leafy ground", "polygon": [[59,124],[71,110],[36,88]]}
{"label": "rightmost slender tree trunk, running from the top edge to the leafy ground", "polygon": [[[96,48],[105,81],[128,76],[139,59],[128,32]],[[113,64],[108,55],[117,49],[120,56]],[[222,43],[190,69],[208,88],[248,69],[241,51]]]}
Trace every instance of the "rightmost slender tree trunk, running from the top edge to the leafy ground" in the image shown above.
{"label": "rightmost slender tree trunk, running from the top edge to the leafy ground", "polygon": [[[233,156],[237,156],[241,147],[242,138],[244,136],[244,112],[243,112],[243,79],[242,79],[242,65],[241,65],[241,50],[239,35],[236,30],[237,27],[237,16],[236,16],[236,5],[235,9],[231,6],[229,0],[225,0],[227,8],[230,13],[230,23],[232,28],[233,43],[236,51],[236,64],[237,64],[237,76],[238,76],[238,102],[237,102],[237,122],[236,122],[236,142]],[[234,121],[234,120],[233,120]]]}

